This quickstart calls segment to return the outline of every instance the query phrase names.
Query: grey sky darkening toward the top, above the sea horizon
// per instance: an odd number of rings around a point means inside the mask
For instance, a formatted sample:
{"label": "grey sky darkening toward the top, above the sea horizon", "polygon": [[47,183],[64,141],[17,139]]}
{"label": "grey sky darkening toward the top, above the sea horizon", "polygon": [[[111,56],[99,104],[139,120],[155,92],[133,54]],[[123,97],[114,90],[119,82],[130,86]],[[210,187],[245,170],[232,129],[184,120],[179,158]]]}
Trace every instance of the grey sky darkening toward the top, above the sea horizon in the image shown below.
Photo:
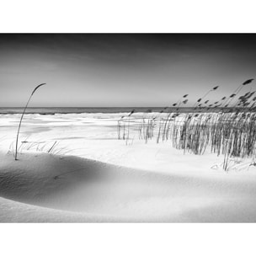
{"label": "grey sky darkening toward the top, above the sea horizon", "polygon": [[[0,34],[0,107],[162,107],[256,77],[254,34]],[[253,90],[256,83],[245,90]]]}

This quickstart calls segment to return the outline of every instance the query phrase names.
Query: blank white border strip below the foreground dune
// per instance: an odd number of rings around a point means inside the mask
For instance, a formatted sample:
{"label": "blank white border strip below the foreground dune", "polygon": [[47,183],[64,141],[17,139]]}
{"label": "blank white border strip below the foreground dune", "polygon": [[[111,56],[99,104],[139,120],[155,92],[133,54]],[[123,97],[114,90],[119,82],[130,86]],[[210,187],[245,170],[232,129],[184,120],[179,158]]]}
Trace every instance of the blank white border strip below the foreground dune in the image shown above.
{"label": "blank white border strip below the foreground dune", "polygon": [[1,255],[255,255],[254,224],[2,224]]}

